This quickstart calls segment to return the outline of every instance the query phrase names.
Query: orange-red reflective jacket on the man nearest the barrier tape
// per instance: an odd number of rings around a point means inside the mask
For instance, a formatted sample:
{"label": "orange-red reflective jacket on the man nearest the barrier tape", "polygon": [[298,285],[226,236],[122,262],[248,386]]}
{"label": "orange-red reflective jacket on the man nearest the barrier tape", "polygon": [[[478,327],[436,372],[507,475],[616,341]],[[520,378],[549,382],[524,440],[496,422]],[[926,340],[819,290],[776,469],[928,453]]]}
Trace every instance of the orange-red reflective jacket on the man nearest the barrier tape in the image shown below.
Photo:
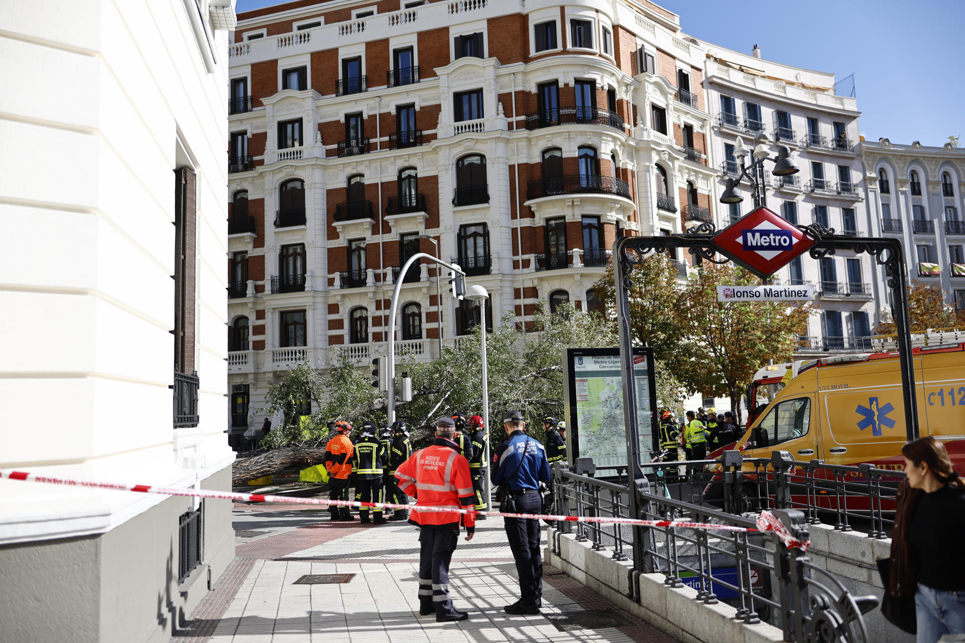
{"label": "orange-red reflective jacket on the man nearest the barrier tape", "polygon": [[[459,519],[470,533],[476,528],[473,514],[460,515],[455,510],[476,504],[469,461],[458,453],[458,444],[436,438],[431,446],[416,451],[396,469],[399,489],[417,496],[416,508],[409,522],[421,526],[458,527]],[[454,511],[419,511],[419,507],[448,507]]]}

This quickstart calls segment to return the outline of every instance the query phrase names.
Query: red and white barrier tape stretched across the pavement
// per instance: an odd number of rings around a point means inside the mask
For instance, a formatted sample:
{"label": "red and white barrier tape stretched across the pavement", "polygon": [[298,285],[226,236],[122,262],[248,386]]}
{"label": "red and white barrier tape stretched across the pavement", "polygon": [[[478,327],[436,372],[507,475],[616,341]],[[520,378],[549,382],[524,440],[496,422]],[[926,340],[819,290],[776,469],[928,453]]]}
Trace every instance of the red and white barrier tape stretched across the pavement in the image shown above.
{"label": "red and white barrier tape stretched across the pavement", "polygon": [[329,500],[317,497],[290,497],[290,496],[265,496],[263,494],[238,494],[235,492],[219,492],[212,490],[198,489],[178,489],[175,487],[155,487],[152,485],[125,485],[120,482],[105,482],[102,480],[84,480],[80,478],[63,478],[54,475],[43,475],[41,473],[30,473],[28,471],[14,471],[0,469],[0,478],[11,480],[24,480],[27,482],[42,482],[52,485],[66,485],[69,487],[91,487],[95,489],[113,489],[115,491],[138,492],[141,494],[157,494],[160,496],[188,496],[188,497],[210,497],[224,500],[237,500],[242,502],[275,502],[282,504],[314,504],[325,506],[372,508],[372,509],[413,509],[419,511],[448,511],[460,514],[472,514],[481,516],[501,516],[503,518],[525,518],[531,520],[544,520],[553,522],[599,522],[607,524],[627,524],[643,527],[684,527],[688,529],[708,529],[714,531],[732,532],[756,532],[772,531],[789,548],[800,548],[807,550],[811,541],[800,541],[790,534],[785,524],[777,519],[769,511],[763,511],[758,517],[758,528],[739,527],[732,524],[716,524],[713,522],[691,522],[691,521],[645,521],[634,518],[618,518],[605,516],[553,516],[550,514],[513,514],[501,511],[476,511],[472,507],[433,507],[428,505],[417,505],[412,507],[408,504],[395,504],[392,502],[359,502],[355,500]]}

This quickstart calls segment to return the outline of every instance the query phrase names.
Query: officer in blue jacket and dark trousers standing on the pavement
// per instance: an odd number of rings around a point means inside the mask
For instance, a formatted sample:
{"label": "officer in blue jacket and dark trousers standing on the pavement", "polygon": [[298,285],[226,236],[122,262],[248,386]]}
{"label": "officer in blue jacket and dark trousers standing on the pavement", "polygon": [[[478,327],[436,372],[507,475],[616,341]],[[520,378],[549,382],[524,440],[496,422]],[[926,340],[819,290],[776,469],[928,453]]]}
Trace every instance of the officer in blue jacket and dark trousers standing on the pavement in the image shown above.
{"label": "officer in blue jacket and dark trousers standing on the pavement", "polygon": [[[542,513],[539,483],[550,482],[549,462],[543,445],[526,435],[526,422],[518,411],[503,414],[507,439],[496,447],[491,472],[492,483],[500,486],[501,496],[510,496],[513,513]],[[506,508],[505,506],[503,507]],[[506,537],[519,575],[520,598],[507,605],[510,614],[538,614],[542,605],[542,555],[539,550],[539,521],[504,518]]]}

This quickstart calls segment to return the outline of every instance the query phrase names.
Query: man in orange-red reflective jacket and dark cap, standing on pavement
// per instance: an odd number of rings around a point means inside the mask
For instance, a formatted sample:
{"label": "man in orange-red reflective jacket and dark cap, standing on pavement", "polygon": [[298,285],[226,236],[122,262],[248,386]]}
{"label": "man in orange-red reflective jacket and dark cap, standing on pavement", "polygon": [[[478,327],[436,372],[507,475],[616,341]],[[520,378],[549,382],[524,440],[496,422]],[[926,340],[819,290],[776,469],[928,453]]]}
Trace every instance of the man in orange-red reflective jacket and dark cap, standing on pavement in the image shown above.
{"label": "man in orange-red reflective jacket and dark cap, standing on pavement", "polygon": [[466,540],[473,539],[476,520],[472,513],[457,511],[420,511],[419,507],[472,507],[476,501],[469,463],[459,455],[452,417],[435,421],[435,440],[431,446],[417,451],[399,469],[399,488],[403,493],[418,497],[409,522],[418,524],[419,543],[419,613],[435,613],[440,623],[464,621],[469,618],[460,612],[449,598],[449,564],[459,539],[459,524],[466,526]]}

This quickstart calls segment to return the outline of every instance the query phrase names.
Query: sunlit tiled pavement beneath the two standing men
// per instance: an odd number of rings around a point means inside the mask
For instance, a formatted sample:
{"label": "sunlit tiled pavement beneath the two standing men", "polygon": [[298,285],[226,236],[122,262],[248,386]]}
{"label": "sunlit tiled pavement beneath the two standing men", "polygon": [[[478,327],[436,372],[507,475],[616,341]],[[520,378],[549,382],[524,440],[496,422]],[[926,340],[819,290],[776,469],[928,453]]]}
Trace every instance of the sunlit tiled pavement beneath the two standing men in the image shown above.
{"label": "sunlit tiled pavement beneath the two standing men", "polygon": [[[418,534],[411,525],[329,522],[327,513],[291,506],[236,505],[234,520],[239,530],[267,533],[237,539],[237,557],[217,590],[172,643],[674,641],[548,566],[542,614],[504,612],[518,598],[518,584],[502,519],[480,522],[470,543],[460,537],[450,590],[469,620],[447,624],[419,616]],[[341,584],[292,584],[306,574],[355,576]],[[601,614],[596,629],[554,625]]]}

